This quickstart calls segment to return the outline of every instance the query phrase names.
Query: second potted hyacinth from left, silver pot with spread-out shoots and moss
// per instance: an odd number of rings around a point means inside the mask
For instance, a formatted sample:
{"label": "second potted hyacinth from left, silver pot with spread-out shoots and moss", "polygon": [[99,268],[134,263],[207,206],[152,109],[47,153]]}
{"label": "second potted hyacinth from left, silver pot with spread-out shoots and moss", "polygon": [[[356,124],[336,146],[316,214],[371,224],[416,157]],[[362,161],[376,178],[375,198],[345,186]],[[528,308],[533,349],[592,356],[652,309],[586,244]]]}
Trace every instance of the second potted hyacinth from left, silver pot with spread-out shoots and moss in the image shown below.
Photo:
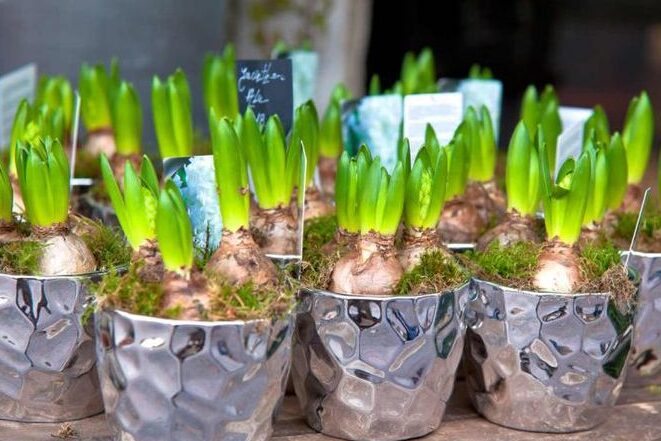
{"label": "second potted hyacinth from left, silver pot with spread-out shoots and moss", "polygon": [[[146,236],[155,235],[163,271],[160,280],[145,279],[140,268],[150,262],[138,259],[97,289],[99,373],[122,438],[268,439],[284,395],[295,288],[250,235],[246,163],[230,121],[212,113],[211,136],[223,221],[213,253],[194,249],[174,183],[154,189],[126,166],[125,204],[115,208],[125,211],[119,218],[129,237],[131,219],[147,217],[147,229],[153,222]],[[140,194],[145,203],[130,205]]]}

